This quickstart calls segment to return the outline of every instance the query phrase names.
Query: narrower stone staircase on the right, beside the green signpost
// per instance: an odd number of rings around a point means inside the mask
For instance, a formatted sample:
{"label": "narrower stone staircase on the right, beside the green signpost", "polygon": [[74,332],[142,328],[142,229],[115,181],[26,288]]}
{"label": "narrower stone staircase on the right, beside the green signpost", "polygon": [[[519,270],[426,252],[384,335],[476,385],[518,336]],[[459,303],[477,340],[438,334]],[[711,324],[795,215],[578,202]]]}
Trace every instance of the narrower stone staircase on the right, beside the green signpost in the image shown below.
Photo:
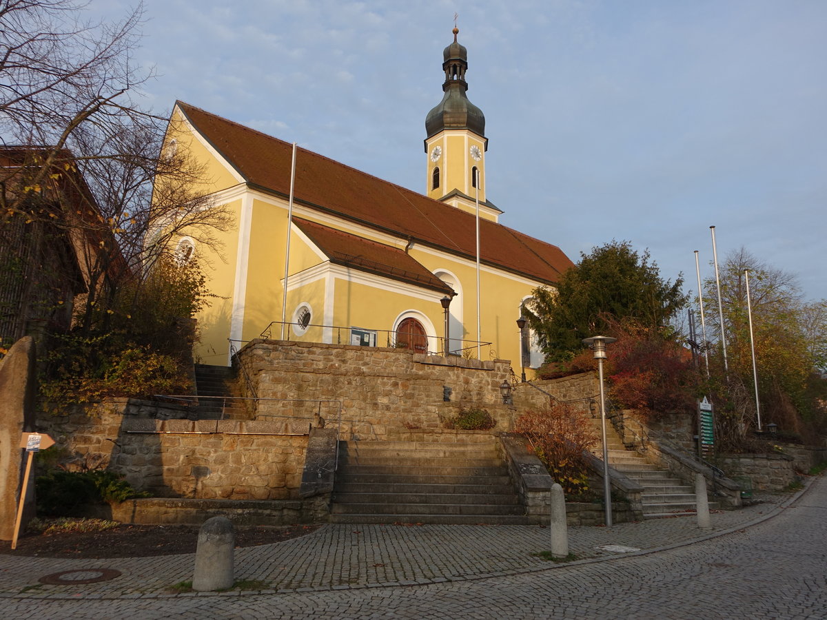
{"label": "narrower stone staircase on the right, beside the green signpost", "polygon": [[[593,418],[591,422],[600,435],[600,418]],[[696,512],[694,487],[674,478],[666,468],[648,463],[639,452],[628,450],[610,422],[606,422],[606,442],[609,447],[609,465],[643,487],[641,502],[644,518]],[[603,459],[600,444],[592,449],[592,453]],[[710,502],[710,508],[715,508],[715,504]]]}

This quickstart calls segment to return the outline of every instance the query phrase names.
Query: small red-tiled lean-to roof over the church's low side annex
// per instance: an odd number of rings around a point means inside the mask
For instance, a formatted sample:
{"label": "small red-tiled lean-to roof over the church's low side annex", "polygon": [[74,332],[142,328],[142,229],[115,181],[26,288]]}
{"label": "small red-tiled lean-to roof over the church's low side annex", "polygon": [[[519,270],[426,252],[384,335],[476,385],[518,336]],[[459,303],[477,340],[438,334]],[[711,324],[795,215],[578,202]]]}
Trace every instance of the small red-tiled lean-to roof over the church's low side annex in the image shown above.
{"label": "small red-tiled lean-to roof over the church's low side annex", "polygon": [[440,293],[453,293],[450,286],[402,250],[299,217],[294,217],[293,222],[332,263],[384,275]]}

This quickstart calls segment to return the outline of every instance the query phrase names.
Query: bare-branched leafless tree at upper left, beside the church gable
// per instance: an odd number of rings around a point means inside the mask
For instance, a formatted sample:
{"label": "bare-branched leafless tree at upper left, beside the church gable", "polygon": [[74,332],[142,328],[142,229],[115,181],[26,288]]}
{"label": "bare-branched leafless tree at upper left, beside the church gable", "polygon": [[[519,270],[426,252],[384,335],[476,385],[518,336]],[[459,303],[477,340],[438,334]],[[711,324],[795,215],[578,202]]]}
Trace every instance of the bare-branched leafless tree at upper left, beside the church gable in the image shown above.
{"label": "bare-branched leafless tree at upper left, beside the church gable", "polygon": [[0,0],[0,136],[14,154],[0,169],[0,227],[15,218],[65,231],[87,283],[88,331],[92,309],[140,284],[176,236],[220,252],[214,231],[231,221],[185,152],[160,156],[167,117],[133,97],[152,77],[132,58],[141,4],[114,23],[85,20],[85,7]]}

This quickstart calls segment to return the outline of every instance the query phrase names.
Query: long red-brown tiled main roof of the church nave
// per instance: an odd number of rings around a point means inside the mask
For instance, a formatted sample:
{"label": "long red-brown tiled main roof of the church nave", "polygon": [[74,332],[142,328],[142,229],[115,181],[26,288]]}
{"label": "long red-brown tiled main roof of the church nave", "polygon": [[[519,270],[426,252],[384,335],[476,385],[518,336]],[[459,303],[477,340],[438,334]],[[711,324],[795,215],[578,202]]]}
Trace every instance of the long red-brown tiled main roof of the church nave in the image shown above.
{"label": "long red-brown tiled main roof of the church nave", "polygon": [[[289,195],[292,145],[187,103],[177,106],[249,184]],[[298,149],[294,199],[455,255],[476,256],[471,213],[309,150]],[[557,282],[572,265],[557,246],[485,219],[480,219],[480,260],[547,283]]]}

